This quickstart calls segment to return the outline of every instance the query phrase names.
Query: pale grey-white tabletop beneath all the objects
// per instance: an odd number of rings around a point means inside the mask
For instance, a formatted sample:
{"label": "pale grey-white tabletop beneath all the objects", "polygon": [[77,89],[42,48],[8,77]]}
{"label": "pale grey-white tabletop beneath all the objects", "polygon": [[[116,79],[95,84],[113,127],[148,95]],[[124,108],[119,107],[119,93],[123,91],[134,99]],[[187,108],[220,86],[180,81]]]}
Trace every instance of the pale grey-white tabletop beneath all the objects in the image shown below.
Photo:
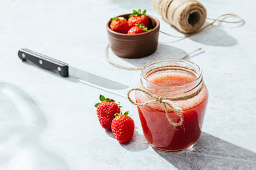
{"label": "pale grey-white tabletop beneath all the objects", "polygon": [[[237,13],[243,24],[216,24],[191,38],[159,36],[157,53],[127,66],[166,57],[189,57],[203,71],[209,104],[193,150],[157,152],[143,137],[136,108],[124,97],[61,78],[17,57],[29,48],[73,66],[136,85],[140,73],[104,59],[106,22],[147,9],[161,30],[179,34],[148,0],[12,0],[0,8],[0,169],[256,169],[255,1],[207,1],[209,17]],[[99,94],[120,101],[136,124],[131,143],[120,145],[97,120]]]}

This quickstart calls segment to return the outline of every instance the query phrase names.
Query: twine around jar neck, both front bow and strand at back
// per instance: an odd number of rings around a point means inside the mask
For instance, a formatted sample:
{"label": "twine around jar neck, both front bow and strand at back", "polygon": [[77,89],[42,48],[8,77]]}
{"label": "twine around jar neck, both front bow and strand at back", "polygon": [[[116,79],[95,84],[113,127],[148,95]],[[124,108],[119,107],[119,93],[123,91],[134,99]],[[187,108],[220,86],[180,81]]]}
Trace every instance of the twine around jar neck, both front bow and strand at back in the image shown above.
{"label": "twine around jar neck, both front bow and strand at back", "polygon": [[[167,70],[167,69],[169,69],[169,70],[171,70],[171,69],[173,69],[173,70],[176,70],[176,69],[183,70],[184,68],[191,70],[191,73],[193,73],[193,69],[191,69],[189,67],[177,66],[177,65],[166,65],[166,66],[159,66],[159,67],[155,67],[153,69],[150,69],[146,74],[152,74],[152,73],[156,73],[157,71],[164,71],[164,70]],[[175,106],[173,101],[184,101],[184,100],[188,100],[188,99],[191,99],[191,98],[197,96],[198,94],[200,94],[200,92],[202,91],[202,89],[204,87],[204,81],[201,81],[199,84],[201,84],[201,85],[195,92],[193,92],[191,94],[188,94],[186,96],[181,96],[181,97],[164,97],[164,96],[159,96],[157,94],[152,94],[152,93],[148,92],[147,90],[144,90],[144,89],[141,89],[141,88],[134,88],[134,89],[129,90],[129,92],[127,93],[127,98],[135,106],[147,106],[148,104],[155,103],[155,102],[163,104],[166,118],[168,119],[170,124],[177,126],[177,125],[182,125],[183,122],[184,122],[183,111],[182,111],[181,108]],[[136,103],[130,97],[130,94],[131,94],[132,91],[143,92],[148,97],[150,97],[152,100],[147,101],[145,103]],[[179,122],[174,122],[172,120],[172,118],[169,117],[167,106],[169,106],[179,116],[179,118],[180,118]]]}

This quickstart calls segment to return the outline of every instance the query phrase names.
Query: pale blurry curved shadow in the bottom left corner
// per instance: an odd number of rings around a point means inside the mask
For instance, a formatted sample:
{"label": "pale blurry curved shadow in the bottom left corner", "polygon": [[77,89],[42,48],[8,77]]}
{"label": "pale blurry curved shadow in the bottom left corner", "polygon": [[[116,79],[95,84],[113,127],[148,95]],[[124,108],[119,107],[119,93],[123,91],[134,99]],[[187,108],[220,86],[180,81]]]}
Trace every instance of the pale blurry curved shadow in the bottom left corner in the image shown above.
{"label": "pale blurry curved shadow in the bottom left corner", "polygon": [[65,160],[40,143],[39,135],[47,120],[26,92],[10,83],[0,82],[0,106],[1,167],[69,169]]}

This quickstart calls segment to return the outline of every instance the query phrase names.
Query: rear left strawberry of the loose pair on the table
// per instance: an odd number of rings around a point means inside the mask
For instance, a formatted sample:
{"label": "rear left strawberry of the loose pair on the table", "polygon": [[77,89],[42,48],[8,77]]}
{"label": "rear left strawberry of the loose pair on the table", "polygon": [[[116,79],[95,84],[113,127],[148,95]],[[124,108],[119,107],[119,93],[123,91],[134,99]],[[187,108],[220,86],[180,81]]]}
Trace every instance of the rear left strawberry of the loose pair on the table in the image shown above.
{"label": "rear left strawberry of the loose pair on the table", "polygon": [[100,95],[101,103],[96,103],[97,117],[99,118],[100,125],[104,129],[111,129],[111,122],[115,113],[120,113],[120,107],[113,99],[106,98]]}

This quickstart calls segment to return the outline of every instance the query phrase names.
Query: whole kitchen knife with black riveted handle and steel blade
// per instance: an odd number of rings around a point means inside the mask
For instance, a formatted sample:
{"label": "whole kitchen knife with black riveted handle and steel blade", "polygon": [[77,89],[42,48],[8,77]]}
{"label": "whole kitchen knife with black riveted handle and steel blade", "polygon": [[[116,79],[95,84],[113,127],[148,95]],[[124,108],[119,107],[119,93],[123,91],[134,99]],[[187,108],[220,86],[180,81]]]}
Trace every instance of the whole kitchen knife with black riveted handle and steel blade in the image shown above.
{"label": "whole kitchen knife with black riveted handle and steel blade", "polygon": [[104,87],[106,89],[121,90],[127,89],[129,87],[122,83],[118,83],[116,81],[97,76],[96,74],[83,71],[76,67],[69,66],[65,62],[52,59],[51,57],[48,57],[38,52],[33,52],[32,50],[29,50],[27,48],[20,49],[18,52],[18,56],[21,60],[28,60],[29,62],[32,62],[33,64],[36,64],[37,66],[44,69],[58,71],[58,73],[60,73],[60,75],[63,77],[73,76],[75,78],[78,78],[79,80],[86,81],[92,83],[93,85]]}

